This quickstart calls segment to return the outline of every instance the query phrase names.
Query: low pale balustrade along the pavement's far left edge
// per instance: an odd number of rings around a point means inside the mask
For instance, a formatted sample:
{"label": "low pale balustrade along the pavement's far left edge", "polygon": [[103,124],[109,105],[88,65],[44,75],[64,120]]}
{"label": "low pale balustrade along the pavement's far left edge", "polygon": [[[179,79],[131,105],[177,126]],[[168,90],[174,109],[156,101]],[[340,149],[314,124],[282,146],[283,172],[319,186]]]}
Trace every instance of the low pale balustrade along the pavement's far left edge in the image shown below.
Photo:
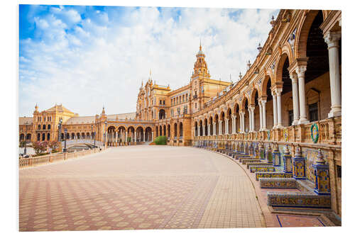
{"label": "low pale balustrade along the pavement's far left edge", "polygon": [[53,162],[60,162],[67,159],[82,157],[87,154],[93,154],[99,152],[99,148],[94,148],[91,150],[83,150],[79,152],[60,152],[47,154],[40,157],[28,157],[18,159],[18,168],[23,169],[26,167],[36,167],[43,164],[50,164]]}

